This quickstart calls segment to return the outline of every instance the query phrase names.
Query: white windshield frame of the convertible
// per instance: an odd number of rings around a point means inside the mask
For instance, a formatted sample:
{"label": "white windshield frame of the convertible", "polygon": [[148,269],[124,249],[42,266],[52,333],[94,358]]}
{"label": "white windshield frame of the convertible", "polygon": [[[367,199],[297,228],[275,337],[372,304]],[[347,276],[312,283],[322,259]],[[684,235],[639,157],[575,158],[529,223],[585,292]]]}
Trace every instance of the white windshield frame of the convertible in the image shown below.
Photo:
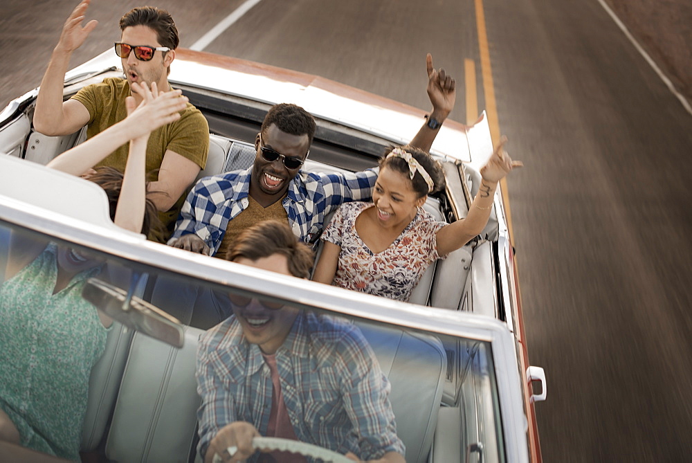
{"label": "white windshield frame of the convertible", "polygon": [[[0,166],[4,164],[5,168],[11,167],[11,163],[3,161],[5,160],[0,159]],[[76,183],[73,179],[65,179],[60,172],[46,167],[32,167],[37,169],[36,178],[51,181],[51,188],[79,190],[82,186],[85,189],[89,186]],[[120,230],[115,226],[95,224],[42,208],[22,201],[22,197],[21,192],[0,186],[0,221],[91,248],[116,261],[125,260],[135,266],[145,265],[336,314],[491,343],[502,417],[498,426],[501,426],[504,435],[506,456],[509,461],[528,460],[525,437],[527,419],[522,407],[522,387],[514,358],[513,336],[507,325],[499,320],[370,296],[190,253],[149,242],[143,235]],[[84,211],[80,211],[80,216],[85,217]]]}

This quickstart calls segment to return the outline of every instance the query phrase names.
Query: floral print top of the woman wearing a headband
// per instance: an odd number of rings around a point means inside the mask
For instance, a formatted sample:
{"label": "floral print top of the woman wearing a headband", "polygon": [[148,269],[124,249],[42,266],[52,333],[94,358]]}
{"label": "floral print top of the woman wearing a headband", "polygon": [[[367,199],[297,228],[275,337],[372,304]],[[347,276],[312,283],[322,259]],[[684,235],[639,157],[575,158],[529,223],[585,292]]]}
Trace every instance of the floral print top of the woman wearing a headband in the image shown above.
{"label": "floral print top of the woman wearing a headband", "polygon": [[[356,231],[356,219],[372,203],[343,203],[322,239],[341,246],[334,286],[408,301],[416,284],[435,260],[437,231],[444,222],[419,209],[401,235],[381,253],[373,253]],[[445,256],[446,257],[446,256]]]}

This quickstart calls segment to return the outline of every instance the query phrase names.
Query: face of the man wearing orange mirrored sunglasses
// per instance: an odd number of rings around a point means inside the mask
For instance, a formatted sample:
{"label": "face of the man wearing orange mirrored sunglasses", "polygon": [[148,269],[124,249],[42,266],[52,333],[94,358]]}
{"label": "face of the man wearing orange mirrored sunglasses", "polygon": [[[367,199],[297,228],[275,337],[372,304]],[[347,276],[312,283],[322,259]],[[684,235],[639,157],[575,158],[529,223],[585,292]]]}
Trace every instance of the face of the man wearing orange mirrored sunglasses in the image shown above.
{"label": "face of the man wearing orange mirrored sunglasses", "polygon": [[[122,31],[120,42],[136,45],[147,45],[152,47],[162,46],[156,38],[154,29],[147,26],[130,26]],[[171,64],[175,57],[175,51],[154,51],[154,57],[149,61],[138,60],[134,51],[131,51],[127,58],[120,58],[122,62],[122,71],[125,73],[127,82],[147,82],[151,85],[156,82],[158,89],[167,91],[167,67]]]}

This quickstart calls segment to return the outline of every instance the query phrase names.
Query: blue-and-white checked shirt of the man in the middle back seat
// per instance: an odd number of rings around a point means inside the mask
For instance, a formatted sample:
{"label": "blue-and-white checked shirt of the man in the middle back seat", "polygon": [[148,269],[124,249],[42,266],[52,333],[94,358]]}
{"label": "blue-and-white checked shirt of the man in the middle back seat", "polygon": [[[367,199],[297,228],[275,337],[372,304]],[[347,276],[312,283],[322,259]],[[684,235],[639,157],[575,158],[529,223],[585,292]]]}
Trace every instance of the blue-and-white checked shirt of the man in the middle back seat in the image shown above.
{"label": "blue-and-white checked shirt of the man in the middle back seat", "polygon": [[[252,167],[200,179],[185,199],[171,239],[194,233],[216,254],[228,221],[248,206]],[[300,171],[284,198],[293,234],[313,243],[322,233],[325,215],[348,201],[370,201],[375,170],[354,174]]]}

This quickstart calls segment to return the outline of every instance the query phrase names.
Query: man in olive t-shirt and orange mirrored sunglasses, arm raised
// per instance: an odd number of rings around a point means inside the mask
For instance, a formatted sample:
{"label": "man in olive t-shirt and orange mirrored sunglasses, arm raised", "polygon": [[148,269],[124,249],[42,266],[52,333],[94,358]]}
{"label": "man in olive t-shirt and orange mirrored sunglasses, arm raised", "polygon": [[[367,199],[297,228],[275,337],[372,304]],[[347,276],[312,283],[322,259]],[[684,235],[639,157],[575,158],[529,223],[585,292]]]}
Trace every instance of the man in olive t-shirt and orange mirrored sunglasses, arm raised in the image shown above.
{"label": "man in olive t-shirt and orange mirrored sunglasses, arm raised", "polygon": [[[168,73],[179,44],[178,30],[167,11],[146,6],[133,8],[120,18],[122,35],[116,42],[116,53],[125,79],[108,78],[63,102],[63,82],[70,57],[98,24],[92,20],[82,27],[89,2],[83,0],[67,19],[41,82],[33,122],[37,131],[48,136],[72,134],[86,124],[87,135],[93,136],[125,119],[125,98],[133,96],[137,104],[142,101],[141,96],[131,92],[132,82],[156,84],[159,91],[171,89]],[[100,165],[125,170],[127,149],[127,145],[120,147]],[[147,170],[158,169],[149,191],[156,192],[152,200],[169,231],[185,192],[206,165],[208,149],[207,121],[192,105],[181,113],[179,120],[149,137]]]}

